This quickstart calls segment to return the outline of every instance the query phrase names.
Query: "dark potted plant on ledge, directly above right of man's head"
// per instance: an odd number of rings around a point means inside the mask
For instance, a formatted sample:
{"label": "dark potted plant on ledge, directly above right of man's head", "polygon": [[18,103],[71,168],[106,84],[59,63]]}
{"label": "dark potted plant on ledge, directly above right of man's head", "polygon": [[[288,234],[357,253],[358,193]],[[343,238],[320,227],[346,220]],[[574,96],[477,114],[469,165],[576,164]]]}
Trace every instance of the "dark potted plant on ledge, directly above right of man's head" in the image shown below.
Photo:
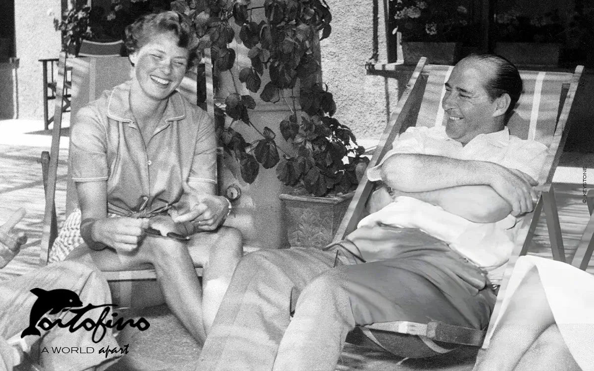
{"label": "dark potted plant on ledge, directly above right of man's head", "polygon": [[557,66],[564,27],[558,11],[528,17],[513,9],[495,16],[498,53],[518,65]]}

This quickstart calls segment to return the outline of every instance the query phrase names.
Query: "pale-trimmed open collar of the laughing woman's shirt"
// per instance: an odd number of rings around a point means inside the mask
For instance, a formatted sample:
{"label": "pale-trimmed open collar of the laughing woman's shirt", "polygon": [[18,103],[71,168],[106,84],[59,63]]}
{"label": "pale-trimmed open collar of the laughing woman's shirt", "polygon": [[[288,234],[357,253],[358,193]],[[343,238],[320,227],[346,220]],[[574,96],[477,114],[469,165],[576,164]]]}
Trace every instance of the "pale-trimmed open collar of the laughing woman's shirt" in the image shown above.
{"label": "pale-trimmed open collar of the laughing woman's shirt", "polygon": [[[108,99],[108,117],[110,119],[122,122],[132,122],[134,116],[130,109],[130,88],[132,80],[126,81],[113,88]],[[181,94],[177,90],[169,96],[165,112],[163,113],[165,121],[178,121],[185,118],[185,107],[182,102]]]}

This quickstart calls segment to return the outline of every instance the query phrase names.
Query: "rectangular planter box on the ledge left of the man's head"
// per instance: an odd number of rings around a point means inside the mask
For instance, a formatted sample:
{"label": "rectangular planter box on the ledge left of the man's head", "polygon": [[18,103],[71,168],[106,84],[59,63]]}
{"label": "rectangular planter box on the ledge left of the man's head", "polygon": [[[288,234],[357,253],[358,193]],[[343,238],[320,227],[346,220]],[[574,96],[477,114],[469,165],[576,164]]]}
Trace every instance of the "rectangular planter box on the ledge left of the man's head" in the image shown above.
{"label": "rectangular planter box on the ledge left of the man's head", "polygon": [[427,57],[427,63],[454,65],[460,56],[461,44],[457,42],[402,42],[405,65],[416,65],[419,58]]}

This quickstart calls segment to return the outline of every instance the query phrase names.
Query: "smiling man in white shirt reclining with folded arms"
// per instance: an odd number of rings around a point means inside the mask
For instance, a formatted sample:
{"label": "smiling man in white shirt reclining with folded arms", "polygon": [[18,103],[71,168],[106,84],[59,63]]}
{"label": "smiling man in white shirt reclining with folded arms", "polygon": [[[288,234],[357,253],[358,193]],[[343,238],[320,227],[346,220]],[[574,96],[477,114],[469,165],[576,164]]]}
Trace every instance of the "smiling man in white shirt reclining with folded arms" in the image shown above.
{"label": "smiling man in white shirt reclining with folded arms", "polygon": [[[488,325],[491,284],[510,255],[516,217],[532,210],[546,147],[505,126],[522,93],[507,60],[470,55],[445,88],[445,127],[407,129],[368,170],[391,188],[386,208],[338,245],[242,259],[199,369],[334,370],[356,326]],[[390,351],[403,357],[448,351],[426,338],[395,338]]]}

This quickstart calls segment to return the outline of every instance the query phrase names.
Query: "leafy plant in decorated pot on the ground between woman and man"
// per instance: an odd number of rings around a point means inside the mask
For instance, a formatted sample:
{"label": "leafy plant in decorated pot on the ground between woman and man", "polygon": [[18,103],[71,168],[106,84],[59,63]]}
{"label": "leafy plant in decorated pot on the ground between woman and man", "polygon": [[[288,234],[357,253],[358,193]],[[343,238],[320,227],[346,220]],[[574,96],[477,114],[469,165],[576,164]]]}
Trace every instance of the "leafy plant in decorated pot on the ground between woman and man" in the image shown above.
{"label": "leafy plant in decorated pot on the ground between woman and man", "polygon": [[301,123],[295,115],[281,123],[295,155],[285,155],[276,167],[279,180],[291,188],[279,198],[285,203],[289,244],[321,248],[336,233],[369,159],[350,129],[331,117],[330,93],[318,87],[303,101]]}

